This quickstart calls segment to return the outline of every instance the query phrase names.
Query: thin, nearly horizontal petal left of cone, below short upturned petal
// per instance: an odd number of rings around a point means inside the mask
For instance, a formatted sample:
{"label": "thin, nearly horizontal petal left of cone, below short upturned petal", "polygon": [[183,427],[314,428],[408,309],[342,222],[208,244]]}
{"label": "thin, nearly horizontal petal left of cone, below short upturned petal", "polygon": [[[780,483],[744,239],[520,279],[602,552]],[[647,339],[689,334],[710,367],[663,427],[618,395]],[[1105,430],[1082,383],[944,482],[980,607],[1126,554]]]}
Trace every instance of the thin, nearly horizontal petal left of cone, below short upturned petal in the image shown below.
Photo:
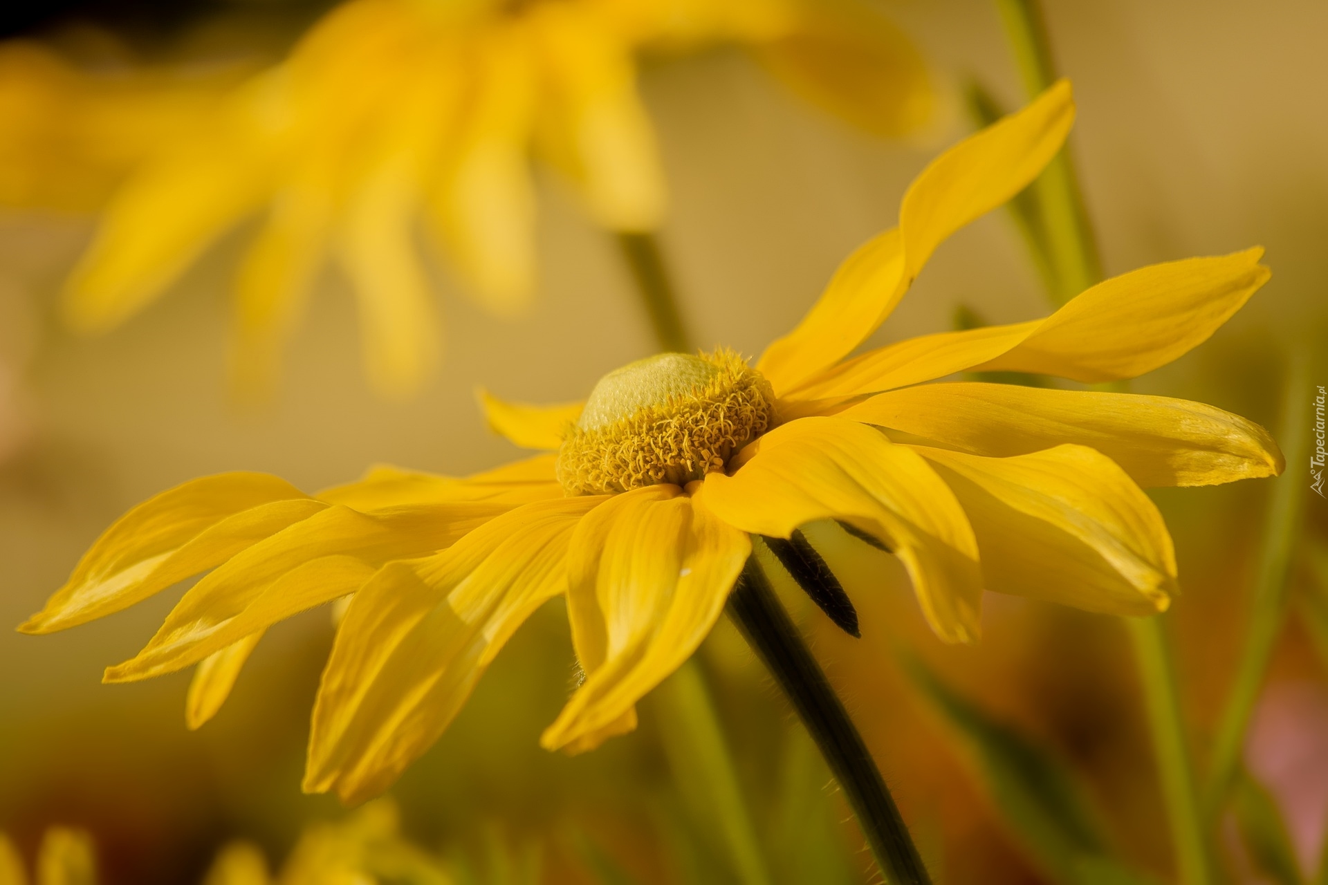
{"label": "thin, nearly horizontal petal left of cone, below short upturned petal", "polygon": [[473,476],[440,476],[378,464],[364,479],[323,490],[317,498],[359,511],[463,500],[529,504],[563,496],[554,472],[556,460],[556,455],[535,455]]}

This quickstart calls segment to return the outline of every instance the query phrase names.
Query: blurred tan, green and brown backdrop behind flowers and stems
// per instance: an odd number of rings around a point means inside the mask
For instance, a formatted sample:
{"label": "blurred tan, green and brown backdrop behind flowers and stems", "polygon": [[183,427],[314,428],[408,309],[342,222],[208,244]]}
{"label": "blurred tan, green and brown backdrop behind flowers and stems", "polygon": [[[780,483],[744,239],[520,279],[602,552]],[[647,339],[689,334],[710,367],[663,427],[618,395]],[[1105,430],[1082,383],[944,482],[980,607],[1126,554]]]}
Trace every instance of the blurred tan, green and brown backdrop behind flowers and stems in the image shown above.
{"label": "blurred tan, green and brown backdrop behind flowers and stems", "polygon": [[[97,0],[7,11],[0,96],[28,70],[13,61],[15,49],[33,46],[122,80],[174,72],[177,97],[219,89],[280,58],[329,5]],[[789,329],[837,264],[895,223],[899,198],[926,162],[972,130],[963,98],[969,84],[980,81],[1005,107],[1024,102],[992,3],[872,5],[916,44],[936,93],[930,126],[907,138],[879,138],[801,101],[738,46],[641,62],[639,89],[669,195],[659,243],[697,344],[754,356]],[[1252,244],[1267,248],[1274,271],[1208,344],[1134,390],[1208,402],[1278,435],[1288,419],[1291,354],[1313,357],[1311,383],[1328,383],[1328,8],[1046,0],[1045,16],[1076,89],[1072,145],[1106,273]],[[185,98],[179,107],[193,113]],[[49,113],[81,131],[70,122],[73,102],[54,102]],[[145,127],[165,126],[170,114],[142,118],[157,121]],[[141,135],[147,143],[161,137]],[[519,401],[567,401],[655,349],[614,239],[578,208],[564,180],[537,167],[539,271],[527,312],[490,316],[445,263],[432,263],[429,288],[444,314],[438,368],[413,398],[385,399],[361,370],[349,285],[328,269],[316,277],[275,393],[238,403],[226,366],[242,236],[223,236],[114,330],[74,334],[58,296],[93,235],[97,202],[78,206],[61,188],[109,191],[116,166],[106,161],[104,175],[89,171],[96,180],[74,188],[56,159],[44,172],[56,196],[41,206],[11,191],[12,206],[0,210],[0,624],[37,610],[102,528],[162,488],[228,470],[270,471],[308,491],[380,462],[482,470],[518,451],[486,430],[477,385]],[[943,245],[874,342],[950,329],[960,305],[991,322],[1048,312],[1004,212]],[[1299,407],[1301,421],[1312,418],[1312,403]],[[1201,759],[1244,642],[1263,512],[1286,482],[1308,486],[1291,464],[1286,479],[1154,495],[1177,543],[1183,596],[1167,621]],[[1328,540],[1328,506],[1308,495],[1295,532],[1304,549]],[[1113,852],[1157,881],[1175,881],[1117,621],[988,596],[983,642],[942,646],[888,556],[822,535],[859,608],[863,638],[786,598],[939,881],[1056,878],[1011,827],[1009,796],[984,775],[981,752],[936,693],[900,667],[902,653],[924,661],[984,720],[1073,771]],[[1289,617],[1244,748],[1307,881],[1328,828],[1319,592],[1328,589],[1295,559]],[[131,657],[177,597],[50,637],[0,630],[0,831],[29,862],[48,827],[69,825],[92,835],[106,884],[194,882],[231,839],[255,841],[275,864],[309,821],[344,816],[335,799],[299,792],[332,638],[325,609],[274,629],[228,705],[197,732],[183,723],[183,674],[100,685],[101,669]],[[652,707],[637,732],[594,754],[538,747],[574,674],[564,625],[554,604],[523,628],[442,740],[393,788],[402,831],[429,851],[469,858],[477,881],[738,881],[722,860],[706,860],[713,847],[697,832]],[[776,878],[869,881],[847,807],[726,624],[705,661],[761,839],[776,856],[821,840],[803,854],[819,858],[814,873],[789,861],[774,865]],[[1231,827],[1223,833],[1246,881],[1279,881],[1256,870]],[[511,858],[521,862],[505,865]]]}

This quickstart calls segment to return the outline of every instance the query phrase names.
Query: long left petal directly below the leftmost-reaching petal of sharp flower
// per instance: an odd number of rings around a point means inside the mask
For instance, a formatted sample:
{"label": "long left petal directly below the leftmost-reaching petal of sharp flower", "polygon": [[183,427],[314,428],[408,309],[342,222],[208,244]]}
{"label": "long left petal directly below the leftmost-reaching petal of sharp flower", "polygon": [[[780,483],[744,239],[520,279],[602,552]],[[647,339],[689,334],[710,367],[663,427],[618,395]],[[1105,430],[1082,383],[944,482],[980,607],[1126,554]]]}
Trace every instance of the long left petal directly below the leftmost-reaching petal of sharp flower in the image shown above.
{"label": "long left petal directly below the leftmost-reaching petal of sharp flower", "polygon": [[389,560],[428,556],[507,510],[474,502],[376,513],[328,507],[202,579],[143,650],[108,667],[104,679],[146,679],[197,663],[254,630],[355,592]]}

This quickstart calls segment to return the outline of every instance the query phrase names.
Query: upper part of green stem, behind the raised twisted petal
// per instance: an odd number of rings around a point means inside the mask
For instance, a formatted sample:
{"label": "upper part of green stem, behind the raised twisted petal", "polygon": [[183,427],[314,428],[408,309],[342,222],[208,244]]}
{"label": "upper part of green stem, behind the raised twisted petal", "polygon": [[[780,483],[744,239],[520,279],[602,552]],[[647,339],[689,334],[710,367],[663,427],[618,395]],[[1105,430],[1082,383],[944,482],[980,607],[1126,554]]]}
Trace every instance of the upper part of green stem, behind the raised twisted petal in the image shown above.
{"label": "upper part of green stem, behind the raised twisted petal", "polygon": [[[1041,8],[1037,0],[996,0],[996,8],[1024,89],[1032,98],[1057,77]],[[1065,304],[1102,279],[1069,146],[1062,147],[1029,186],[1023,206],[1031,210],[1031,218],[1023,219],[1025,234],[1040,253],[1040,269],[1057,304]]]}

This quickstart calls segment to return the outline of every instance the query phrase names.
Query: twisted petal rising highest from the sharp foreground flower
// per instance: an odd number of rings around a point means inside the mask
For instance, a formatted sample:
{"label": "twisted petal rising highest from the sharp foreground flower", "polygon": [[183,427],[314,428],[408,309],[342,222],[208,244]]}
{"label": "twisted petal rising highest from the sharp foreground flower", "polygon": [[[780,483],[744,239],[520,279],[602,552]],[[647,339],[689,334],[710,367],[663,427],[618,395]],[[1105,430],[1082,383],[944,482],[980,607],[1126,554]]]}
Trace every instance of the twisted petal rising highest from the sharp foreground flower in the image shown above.
{"label": "twisted petal rising highest from the sharp foreground flower", "polygon": [[757,368],[784,394],[842,360],[894,310],[942,240],[1023,190],[1074,119],[1069,82],[938,157],[904,194],[898,231],[861,247],[798,326]]}

